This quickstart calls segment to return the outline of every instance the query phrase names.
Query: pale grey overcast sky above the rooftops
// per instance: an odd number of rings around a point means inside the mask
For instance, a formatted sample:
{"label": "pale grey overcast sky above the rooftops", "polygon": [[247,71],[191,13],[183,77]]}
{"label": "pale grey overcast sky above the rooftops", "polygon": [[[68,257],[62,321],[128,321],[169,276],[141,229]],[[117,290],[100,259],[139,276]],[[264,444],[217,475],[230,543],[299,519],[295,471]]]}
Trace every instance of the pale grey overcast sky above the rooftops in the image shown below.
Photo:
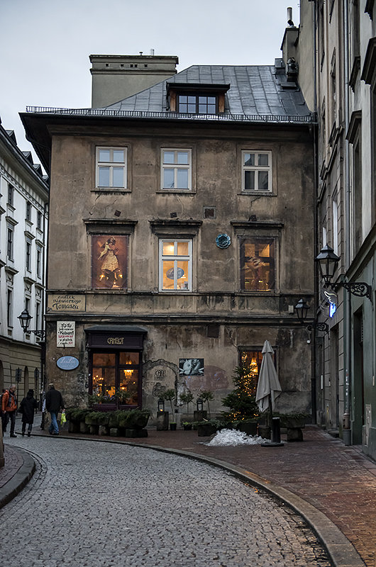
{"label": "pale grey overcast sky above the rooftops", "polygon": [[[31,145],[26,106],[91,105],[89,55],[177,55],[192,64],[273,64],[291,0],[0,0],[0,117]],[[34,159],[36,161],[35,155]]]}

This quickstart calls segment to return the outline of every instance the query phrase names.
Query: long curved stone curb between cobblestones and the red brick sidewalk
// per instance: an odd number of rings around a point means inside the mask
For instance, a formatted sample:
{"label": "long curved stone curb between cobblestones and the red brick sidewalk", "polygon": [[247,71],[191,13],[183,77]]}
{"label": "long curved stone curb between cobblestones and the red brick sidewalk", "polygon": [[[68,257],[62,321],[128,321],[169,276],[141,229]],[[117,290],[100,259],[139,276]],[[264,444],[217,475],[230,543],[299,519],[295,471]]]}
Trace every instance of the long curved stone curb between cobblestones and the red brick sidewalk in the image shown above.
{"label": "long curved stone curb between cobblestones and the red brick sidewalk", "polygon": [[[297,512],[306,523],[311,527],[313,532],[318,537],[321,544],[324,546],[328,552],[328,556],[331,558],[333,567],[365,567],[365,562],[356,551],[353,544],[345,537],[341,530],[334,524],[324,512],[320,512],[313,505],[300,498],[300,496],[295,495],[286,488],[282,486],[275,485],[266,478],[262,478],[255,473],[250,473],[245,471],[244,468],[232,465],[226,461],[220,461],[219,459],[213,459],[204,455],[199,455],[197,453],[191,453],[189,451],[181,451],[179,449],[170,449],[168,447],[160,447],[159,445],[148,445],[146,443],[136,443],[131,441],[119,441],[116,439],[87,439],[86,437],[65,437],[60,434],[60,439],[79,439],[80,441],[94,441],[99,443],[117,443],[123,445],[131,445],[132,447],[141,447],[143,449],[154,449],[155,451],[162,451],[164,453],[175,454],[179,456],[185,456],[188,459],[194,459],[196,461],[203,461],[204,463],[223,468],[226,471],[233,473],[234,476],[245,483],[253,485],[257,488],[265,490],[265,492],[280,500],[282,503],[286,504],[294,512]],[[59,438],[57,437],[57,439]],[[54,437],[56,439],[56,437]]]}

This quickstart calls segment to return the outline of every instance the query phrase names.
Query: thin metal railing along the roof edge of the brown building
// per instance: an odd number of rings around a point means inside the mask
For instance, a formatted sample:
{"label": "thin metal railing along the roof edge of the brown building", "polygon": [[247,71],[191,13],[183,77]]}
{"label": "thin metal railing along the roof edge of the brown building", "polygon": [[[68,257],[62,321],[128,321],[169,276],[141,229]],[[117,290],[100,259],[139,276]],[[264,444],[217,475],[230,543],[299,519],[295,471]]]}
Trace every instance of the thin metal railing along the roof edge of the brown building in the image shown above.
{"label": "thin metal railing along the roof edge of the brown building", "polygon": [[26,106],[26,112],[55,114],[60,116],[105,116],[109,118],[157,118],[183,120],[210,120],[213,122],[264,122],[309,123],[315,122],[314,114],[288,116],[284,114],[185,114],[178,112],[121,111],[107,108],[53,108],[51,106]]}

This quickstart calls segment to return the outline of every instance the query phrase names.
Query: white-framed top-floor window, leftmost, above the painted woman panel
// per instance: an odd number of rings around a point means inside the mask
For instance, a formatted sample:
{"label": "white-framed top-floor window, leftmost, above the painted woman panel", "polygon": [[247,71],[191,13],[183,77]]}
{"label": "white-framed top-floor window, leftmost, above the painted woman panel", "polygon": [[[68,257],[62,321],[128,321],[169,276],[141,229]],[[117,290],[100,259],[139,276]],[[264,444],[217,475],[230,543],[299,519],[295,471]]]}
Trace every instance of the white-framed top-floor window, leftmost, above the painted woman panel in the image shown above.
{"label": "white-framed top-floor window, leftmost, above the painted woman panel", "polygon": [[126,147],[96,148],[96,187],[126,189]]}

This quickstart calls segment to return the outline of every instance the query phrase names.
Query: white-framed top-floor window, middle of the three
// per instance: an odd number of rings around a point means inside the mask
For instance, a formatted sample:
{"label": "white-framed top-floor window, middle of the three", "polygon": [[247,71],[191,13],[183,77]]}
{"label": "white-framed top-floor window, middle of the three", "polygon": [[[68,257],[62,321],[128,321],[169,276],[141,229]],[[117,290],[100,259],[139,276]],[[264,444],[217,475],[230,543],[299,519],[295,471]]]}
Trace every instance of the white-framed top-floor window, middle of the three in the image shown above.
{"label": "white-framed top-floor window, middle of the three", "polygon": [[162,148],[161,189],[192,189],[192,150]]}

